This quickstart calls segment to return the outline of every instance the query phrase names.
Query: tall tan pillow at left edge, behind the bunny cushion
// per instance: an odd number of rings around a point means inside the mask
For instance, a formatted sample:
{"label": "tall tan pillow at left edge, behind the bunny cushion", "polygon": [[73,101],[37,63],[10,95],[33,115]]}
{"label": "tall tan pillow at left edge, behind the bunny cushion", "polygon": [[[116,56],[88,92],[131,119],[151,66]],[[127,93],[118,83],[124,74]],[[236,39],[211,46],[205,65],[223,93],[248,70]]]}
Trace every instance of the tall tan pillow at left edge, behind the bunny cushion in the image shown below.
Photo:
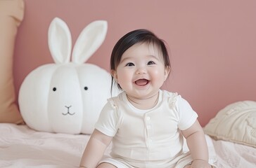
{"label": "tall tan pillow at left edge, behind the bunny cushion", "polygon": [[13,49],[23,14],[23,0],[0,0],[0,123],[23,123],[13,84]]}

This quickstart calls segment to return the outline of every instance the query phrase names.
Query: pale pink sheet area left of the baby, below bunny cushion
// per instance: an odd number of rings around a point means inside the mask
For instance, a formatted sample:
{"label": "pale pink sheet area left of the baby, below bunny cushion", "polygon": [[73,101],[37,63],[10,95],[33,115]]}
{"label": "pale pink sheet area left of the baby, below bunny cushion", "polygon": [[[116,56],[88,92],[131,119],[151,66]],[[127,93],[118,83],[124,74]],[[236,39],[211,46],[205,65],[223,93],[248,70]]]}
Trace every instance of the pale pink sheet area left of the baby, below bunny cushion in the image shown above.
{"label": "pale pink sheet area left of the baby, below bunny cushion", "polygon": [[78,167],[88,135],[35,132],[0,124],[0,167]]}

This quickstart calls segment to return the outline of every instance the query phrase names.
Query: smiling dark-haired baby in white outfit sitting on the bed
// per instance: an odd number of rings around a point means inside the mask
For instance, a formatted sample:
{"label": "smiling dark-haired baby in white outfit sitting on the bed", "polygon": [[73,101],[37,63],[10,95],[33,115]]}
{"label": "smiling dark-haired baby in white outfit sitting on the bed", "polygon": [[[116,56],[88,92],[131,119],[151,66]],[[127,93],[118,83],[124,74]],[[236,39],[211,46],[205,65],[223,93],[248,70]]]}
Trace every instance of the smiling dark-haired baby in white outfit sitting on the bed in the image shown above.
{"label": "smiling dark-haired baby in white outfit sitting on the bed", "polygon": [[[211,167],[197,113],[179,94],[160,89],[171,71],[160,38],[146,29],[129,32],[113,48],[110,68],[112,86],[122,92],[103,107],[80,167]],[[111,158],[102,159],[110,142]]]}

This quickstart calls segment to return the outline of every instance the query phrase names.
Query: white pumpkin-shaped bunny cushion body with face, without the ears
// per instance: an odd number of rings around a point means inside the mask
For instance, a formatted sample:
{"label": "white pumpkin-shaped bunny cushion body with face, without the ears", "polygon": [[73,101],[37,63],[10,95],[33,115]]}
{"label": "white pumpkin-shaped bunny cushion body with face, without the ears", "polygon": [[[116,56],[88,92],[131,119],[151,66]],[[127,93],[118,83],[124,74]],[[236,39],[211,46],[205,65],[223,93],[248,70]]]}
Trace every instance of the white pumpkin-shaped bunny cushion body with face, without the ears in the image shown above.
{"label": "white pumpkin-shaped bunny cushion body with face, without the ears", "polygon": [[110,83],[110,74],[94,64],[39,66],[20,87],[20,112],[34,130],[91,134]]}

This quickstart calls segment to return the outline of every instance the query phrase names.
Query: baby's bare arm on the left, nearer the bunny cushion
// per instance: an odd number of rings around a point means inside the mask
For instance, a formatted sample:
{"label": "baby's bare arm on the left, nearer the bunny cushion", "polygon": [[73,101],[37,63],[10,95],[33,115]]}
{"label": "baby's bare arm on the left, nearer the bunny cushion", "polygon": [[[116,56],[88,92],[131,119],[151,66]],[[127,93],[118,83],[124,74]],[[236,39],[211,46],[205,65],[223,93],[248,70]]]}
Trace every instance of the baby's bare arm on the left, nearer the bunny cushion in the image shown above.
{"label": "baby's bare arm on the left, nearer the bunny cushion", "polygon": [[80,167],[96,167],[112,139],[113,137],[109,137],[98,130],[94,130],[82,155]]}

